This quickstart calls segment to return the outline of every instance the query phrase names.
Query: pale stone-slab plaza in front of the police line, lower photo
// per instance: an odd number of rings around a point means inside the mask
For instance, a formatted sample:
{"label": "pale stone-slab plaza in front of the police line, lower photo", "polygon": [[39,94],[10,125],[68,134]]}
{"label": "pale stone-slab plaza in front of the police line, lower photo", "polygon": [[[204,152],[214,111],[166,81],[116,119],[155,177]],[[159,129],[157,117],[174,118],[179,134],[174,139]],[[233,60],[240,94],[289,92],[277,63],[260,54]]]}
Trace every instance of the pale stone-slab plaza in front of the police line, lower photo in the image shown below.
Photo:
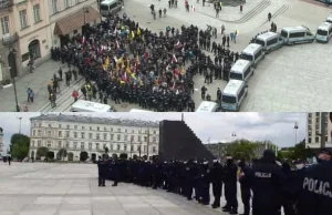
{"label": "pale stone-slab plaza in front of the police line, lower photo", "polygon": [[98,187],[93,164],[0,163],[0,215],[226,215],[162,190]]}

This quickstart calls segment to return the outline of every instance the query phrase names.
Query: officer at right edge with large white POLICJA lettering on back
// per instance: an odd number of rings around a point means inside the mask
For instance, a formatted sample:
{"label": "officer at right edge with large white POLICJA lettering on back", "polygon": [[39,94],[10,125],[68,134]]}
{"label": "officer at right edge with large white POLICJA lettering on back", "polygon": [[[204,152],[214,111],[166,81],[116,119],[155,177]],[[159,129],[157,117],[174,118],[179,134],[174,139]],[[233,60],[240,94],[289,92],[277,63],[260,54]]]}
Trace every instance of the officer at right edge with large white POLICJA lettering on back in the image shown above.
{"label": "officer at right edge with large white POLICJA lettering on back", "polygon": [[319,163],[305,168],[297,191],[299,215],[332,214],[332,151],[322,149]]}

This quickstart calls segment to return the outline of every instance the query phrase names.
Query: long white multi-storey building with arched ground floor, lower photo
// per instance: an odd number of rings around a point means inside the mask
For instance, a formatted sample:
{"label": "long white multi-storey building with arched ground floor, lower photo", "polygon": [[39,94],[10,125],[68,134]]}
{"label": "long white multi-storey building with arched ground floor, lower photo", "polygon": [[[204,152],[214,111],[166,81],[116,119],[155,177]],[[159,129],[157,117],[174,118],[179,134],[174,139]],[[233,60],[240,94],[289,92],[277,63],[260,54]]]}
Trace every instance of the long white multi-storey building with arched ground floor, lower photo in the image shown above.
{"label": "long white multi-storey building with arched ground floor, lower photo", "polygon": [[157,122],[64,114],[40,115],[30,121],[29,155],[34,158],[41,146],[54,152],[55,157],[60,149],[65,149],[69,161],[79,161],[81,152],[87,152],[90,158],[97,157],[104,153],[105,146],[110,155],[158,154]]}

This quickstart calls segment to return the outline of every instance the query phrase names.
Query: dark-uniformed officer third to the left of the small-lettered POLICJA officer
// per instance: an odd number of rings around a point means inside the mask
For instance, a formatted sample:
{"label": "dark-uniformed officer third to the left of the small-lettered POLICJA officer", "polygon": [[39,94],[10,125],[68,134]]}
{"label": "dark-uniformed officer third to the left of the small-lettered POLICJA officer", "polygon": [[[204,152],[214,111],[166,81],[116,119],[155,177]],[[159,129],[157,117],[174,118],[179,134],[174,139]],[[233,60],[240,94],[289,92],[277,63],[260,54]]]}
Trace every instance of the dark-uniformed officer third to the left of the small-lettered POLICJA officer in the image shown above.
{"label": "dark-uniformed officer third to the left of the small-lettered POLICJA officer", "polygon": [[215,196],[215,202],[211,205],[212,208],[220,207],[220,197],[222,191],[222,166],[218,160],[214,160],[214,166],[211,168],[211,183],[212,183],[212,193]]}

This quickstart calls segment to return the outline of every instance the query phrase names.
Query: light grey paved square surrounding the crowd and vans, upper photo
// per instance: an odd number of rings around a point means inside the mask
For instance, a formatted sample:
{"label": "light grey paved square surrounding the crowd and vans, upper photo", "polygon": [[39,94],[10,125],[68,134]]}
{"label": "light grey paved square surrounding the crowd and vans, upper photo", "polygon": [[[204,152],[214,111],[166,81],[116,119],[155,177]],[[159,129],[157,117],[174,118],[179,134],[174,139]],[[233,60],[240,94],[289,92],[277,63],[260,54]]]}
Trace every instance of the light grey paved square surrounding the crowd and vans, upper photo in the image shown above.
{"label": "light grey paved square surrounding the crowd and vans, upper photo", "polygon": [[[268,12],[272,13],[272,21],[277,23],[278,31],[282,27],[305,25],[315,32],[318,25],[328,17],[330,10],[321,6],[299,0],[250,0],[243,6],[243,12],[239,8],[224,7],[220,18],[215,18],[212,6],[203,7],[196,0],[189,0],[195,6],[195,12],[187,13],[179,1],[178,9],[168,9],[167,18],[153,20],[149,6],[154,3],[156,9],[167,8],[166,0],[127,0],[124,10],[129,18],[135,19],[142,28],[148,28],[155,32],[165,31],[167,25],[180,28],[183,24],[191,23],[201,29],[207,24],[218,28],[220,33],[221,24],[226,27],[226,33],[240,32],[237,43],[230,44],[231,51],[242,51],[250,39],[270,28],[267,22]],[[301,10],[299,10],[301,9]],[[217,42],[221,42],[220,34]],[[258,65],[255,75],[249,80],[249,94],[241,106],[241,111],[258,112],[292,112],[292,111],[329,111],[332,102],[331,94],[331,43],[300,44],[284,47],[277,50]],[[212,57],[212,55],[211,55]],[[58,96],[59,106],[51,109],[48,102],[46,84],[59,70],[59,62],[49,61],[35,69],[33,74],[28,74],[17,83],[19,104],[27,104],[27,88],[31,86],[35,92],[35,103],[28,104],[30,111],[63,112],[70,111],[73,103],[71,93],[83,84],[83,80],[72,84],[69,89],[62,86],[62,94]],[[63,71],[66,71],[64,66]],[[196,108],[201,102],[200,88],[204,85],[204,78],[195,76],[195,89],[193,98]],[[214,81],[206,85],[211,98],[216,99],[217,88],[221,90],[226,86],[226,81]],[[0,111],[14,111],[13,89],[0,90]],[[108,104],[114,105],[113,102]],[[117,111],[129,111],[139,109],[138,105],[122,103],[114,105]]]}

